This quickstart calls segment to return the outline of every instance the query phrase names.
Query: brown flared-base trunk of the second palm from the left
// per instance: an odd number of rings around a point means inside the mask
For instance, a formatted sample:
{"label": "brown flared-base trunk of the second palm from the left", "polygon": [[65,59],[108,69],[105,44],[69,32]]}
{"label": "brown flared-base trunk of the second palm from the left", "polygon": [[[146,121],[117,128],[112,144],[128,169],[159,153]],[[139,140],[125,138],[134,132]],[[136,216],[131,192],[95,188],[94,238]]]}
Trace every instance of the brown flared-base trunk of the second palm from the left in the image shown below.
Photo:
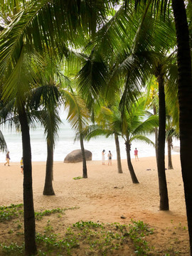
{"label": "brown flared-base trunk of the second palm from the left", "polygon": [[48,156],[47,156],[47,162],[46,162],[46,181],[45,181],[45,186],[43,190],[43,195],[45,196],[55,196],[55,192],[53,190],[53,183],[52,183],[52,178],[53,178],[53,146],[50,145],[47,142],[47,151],[48,151]]}

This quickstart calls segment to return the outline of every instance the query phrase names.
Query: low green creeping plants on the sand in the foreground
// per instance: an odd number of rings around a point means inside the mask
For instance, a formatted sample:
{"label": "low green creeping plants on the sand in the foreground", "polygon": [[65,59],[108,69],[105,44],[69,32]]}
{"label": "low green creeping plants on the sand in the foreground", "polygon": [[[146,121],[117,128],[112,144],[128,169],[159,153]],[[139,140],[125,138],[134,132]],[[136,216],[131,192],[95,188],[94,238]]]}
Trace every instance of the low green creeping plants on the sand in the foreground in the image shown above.
{"label": "low green creeping plants on the sand in the foreground", "polygon": [[[10,243],[0,243],[0,255],[24,255],[23,242],[23,227],[21,225],[23,218],[23,205],[1,206],[1,219],[4,213],[9,213],[11,218],[5,218],[4,223],[11,223],[11,229],[7,230],[8,235],[11,236]],[[8,210],[9,209],[9,210]],[[55,256],[55,255],[78,255],[78,252],[84,255],[113,255],[116,252],[122,255],[130,252],[132,255],[140,256],[156,256],[167,255],[175,256],[181,255],[179,250],[175,250],[171,244],[169,247],[162,248],[157,251],[155,247],[151,246],[153,240],[154,229],[141,220],[130,220],[129,225],[122,225],[119,223],[100,223],[92,221],[78,221],[73,225],[63,228],[60,223],[60,233],[55,233],[55,224],[53,221],[58,216],[55,213],[60,213],[62,217],[65,210],[75,210],[74,208],[52,209],[44,210],[43,212],[36,212],[36,219],[39,222],[43,221],[43,217],[49,216],[45,219],[45,225],[41,232],[36,233],[36,243],[38,245],[38,256]],[[13,211],[15,210],[15,211]],[[51,216],[55,216],[50,220]],[[17,218],[18,220],[14,220]],[[65,219],[64,223],[65,223]],[[62,221],[62,220],[60,220]],[[58,221],[57,221],[58,222]],[[178,227],[173,224],[174,233],[187,232],[182,228],[181,223]],[[18,232],[19,230],[19,232]],[[9,239],[8,239],[9,240]],[[174,238],[174,243],[179,244],[179,240]],[[164,254],[162,254],[164,253]]]}

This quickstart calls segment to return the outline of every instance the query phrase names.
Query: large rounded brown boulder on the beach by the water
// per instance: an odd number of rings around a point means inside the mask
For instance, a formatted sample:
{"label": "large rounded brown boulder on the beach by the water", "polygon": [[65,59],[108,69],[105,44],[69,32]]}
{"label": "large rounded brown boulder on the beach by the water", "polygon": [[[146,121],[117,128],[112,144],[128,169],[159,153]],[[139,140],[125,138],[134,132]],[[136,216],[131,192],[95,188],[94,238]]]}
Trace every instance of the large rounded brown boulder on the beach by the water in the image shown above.
{"label": "large rounded brown boulder on the beach by the water", "polygon": [[[91,151],[85,149],[85,159],[87,161],[92,160]],[[81,149],[76,149],[71,151],[67,156],[65,156],[64,163],[78,163],[82,161],[82,151]]]}

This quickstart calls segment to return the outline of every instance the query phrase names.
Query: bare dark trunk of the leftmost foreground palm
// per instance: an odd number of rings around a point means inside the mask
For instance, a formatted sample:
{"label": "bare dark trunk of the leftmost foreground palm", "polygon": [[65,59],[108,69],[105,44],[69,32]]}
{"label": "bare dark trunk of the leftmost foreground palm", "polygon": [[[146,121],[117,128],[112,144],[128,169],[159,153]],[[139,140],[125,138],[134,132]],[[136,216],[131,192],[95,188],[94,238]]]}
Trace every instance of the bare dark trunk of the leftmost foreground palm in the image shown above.
{"label": "bare dark trunk of the leftmost foreground palm", "polygon": [[32,166],[31,166],[31,142],[26,111],[23,107],[18,112],[21,124],[23,146],[23,208],[24,208],[24,237],[25,255],[36,255],[36,224],[33,207]]}

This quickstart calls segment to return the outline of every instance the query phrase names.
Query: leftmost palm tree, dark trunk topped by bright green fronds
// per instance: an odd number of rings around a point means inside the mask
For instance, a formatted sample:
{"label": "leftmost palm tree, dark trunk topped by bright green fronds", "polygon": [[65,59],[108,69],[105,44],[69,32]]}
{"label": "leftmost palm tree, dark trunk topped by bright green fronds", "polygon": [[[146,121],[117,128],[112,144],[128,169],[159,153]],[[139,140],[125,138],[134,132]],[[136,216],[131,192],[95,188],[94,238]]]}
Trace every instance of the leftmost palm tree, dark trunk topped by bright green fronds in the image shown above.
{"label": "leftmost palm tree, dark trunk topped by bright green fronds", "polygon": [[[23,208],[24,208],[24,238],[26,255],[36,254],[36,227],[33,207],[32,188],[32,165],[31,165],[31,142],[29,134],[29,123],[31,122],[31,110],[28,104],[28,97],[34,86],[34,79],[37,80],[38,70],[41,65],[36,63],[36,58],[29,58],[24,53],[23,46],[21,55],[14,68],[4,73],[4,87],[1,100],[4,105],[9,105],[9,113],[18,117],[21,129],[23,146]],[[36,74],[36,75],[35,75]]]}

